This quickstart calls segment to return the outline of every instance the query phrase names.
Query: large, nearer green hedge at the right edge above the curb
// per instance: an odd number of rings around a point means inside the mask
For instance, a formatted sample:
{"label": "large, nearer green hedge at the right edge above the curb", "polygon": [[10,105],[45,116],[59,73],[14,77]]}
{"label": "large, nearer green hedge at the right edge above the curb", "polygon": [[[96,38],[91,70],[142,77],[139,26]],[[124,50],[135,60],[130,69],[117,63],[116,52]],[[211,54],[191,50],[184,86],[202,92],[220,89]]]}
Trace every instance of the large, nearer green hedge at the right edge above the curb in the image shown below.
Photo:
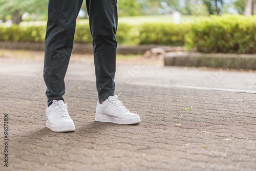
{"label": "large, nearer green hedge at the right edge above the curb", "polygon": [[256,16],[212,15],[191,24],[185,47],[205,53],[256,53]]}

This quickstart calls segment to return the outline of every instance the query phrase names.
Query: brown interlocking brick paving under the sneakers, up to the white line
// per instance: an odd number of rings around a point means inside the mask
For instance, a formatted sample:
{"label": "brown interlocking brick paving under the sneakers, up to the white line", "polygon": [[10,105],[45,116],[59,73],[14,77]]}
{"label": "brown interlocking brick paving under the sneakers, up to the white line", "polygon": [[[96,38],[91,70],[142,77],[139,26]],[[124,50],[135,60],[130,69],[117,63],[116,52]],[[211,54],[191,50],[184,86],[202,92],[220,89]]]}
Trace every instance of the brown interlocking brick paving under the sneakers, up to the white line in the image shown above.
{"label": "brown interlocking brick paving under the sneakers, up to the white line", "polygon": [[0,170],[256,170],[255,94],[117,81],[119,99],[142,120],[118,125],[94,121],[95,82],[70,76],[65,99],[76,131],[54,133],[45,126],[44,81],[33,73],[0,68]]}

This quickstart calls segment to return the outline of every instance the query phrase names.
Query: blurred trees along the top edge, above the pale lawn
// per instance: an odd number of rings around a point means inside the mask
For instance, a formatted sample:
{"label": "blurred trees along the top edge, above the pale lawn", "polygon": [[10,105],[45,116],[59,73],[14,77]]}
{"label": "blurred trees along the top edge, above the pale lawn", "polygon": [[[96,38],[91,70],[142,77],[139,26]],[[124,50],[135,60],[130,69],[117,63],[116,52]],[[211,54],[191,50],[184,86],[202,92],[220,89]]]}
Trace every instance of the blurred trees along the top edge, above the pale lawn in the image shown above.
{"label": "blurred trees along the top edge, above the pale lawn", "polygon": [[[243,14],[245,2],[246,0],[118,0],[117,7],[119,16],[169,15],[174,11],[183,15],[221,15]],[[0,0],[0,20],[12,20],[14,24],[24,20],[47,20],[47,6],[48,0]],[[87,11],[86,3],[83,3],[81,9]]]}

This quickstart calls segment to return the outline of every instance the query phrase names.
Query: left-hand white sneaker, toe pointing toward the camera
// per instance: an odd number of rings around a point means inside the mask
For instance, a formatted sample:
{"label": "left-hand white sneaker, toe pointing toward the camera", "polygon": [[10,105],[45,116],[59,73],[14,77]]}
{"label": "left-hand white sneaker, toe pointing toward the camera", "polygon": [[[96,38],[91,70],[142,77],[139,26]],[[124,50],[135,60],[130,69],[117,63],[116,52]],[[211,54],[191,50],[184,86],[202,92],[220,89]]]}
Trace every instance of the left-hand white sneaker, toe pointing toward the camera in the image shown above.
{"label": "left-hand white sneaker, toe pointing toward the camera", "polygon": [[46,109],[46,127],[54,132],[75,131],[75,124],[68,113],[68,105],[63,100],[53,100]]}

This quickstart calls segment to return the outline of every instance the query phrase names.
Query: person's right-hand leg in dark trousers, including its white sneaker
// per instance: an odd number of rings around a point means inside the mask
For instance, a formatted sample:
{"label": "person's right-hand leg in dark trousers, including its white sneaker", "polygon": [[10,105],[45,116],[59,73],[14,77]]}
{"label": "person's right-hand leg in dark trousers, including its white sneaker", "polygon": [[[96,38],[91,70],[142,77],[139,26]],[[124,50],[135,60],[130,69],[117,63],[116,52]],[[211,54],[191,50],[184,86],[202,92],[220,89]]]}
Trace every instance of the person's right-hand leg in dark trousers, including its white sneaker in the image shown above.
{"label": "person's right-hand leg in dark trousers, including its white sneaker", "polygon": [[[95,120],[118,124],[140,123],[137,114],[130,113],[118,96],[114,96],[116,72],[117,1],[87,0],[90,29],[93,36],[94,64],[98,102]],[[104,101],[104,102],[103,102]],[[103,102],[103,103],[100,103]]]}

